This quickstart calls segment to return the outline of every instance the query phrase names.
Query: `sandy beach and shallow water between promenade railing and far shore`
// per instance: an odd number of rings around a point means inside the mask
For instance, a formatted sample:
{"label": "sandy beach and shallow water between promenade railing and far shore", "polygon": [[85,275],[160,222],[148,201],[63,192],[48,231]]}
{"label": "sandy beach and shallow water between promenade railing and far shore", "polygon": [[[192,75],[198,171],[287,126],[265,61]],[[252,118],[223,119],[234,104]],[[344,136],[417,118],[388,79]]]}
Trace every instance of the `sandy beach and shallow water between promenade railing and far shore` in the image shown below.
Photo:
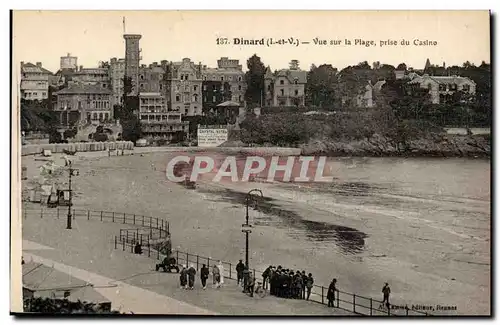
{"label": "sandy beach and shallow water between promenade railing and far shore", "polygon": [[[389,282],[394,304],[489,313],[489,161],[332,158],[331,184],[207,178],[190,190],[165,177],[172,155],[78,153],[75,206],[163,218],[174,248],[236,263],[244,258],[245,193],[259,188],[251,267],[306,270],[325,286],[336,277],[341,290],[377,299]],[[35,159],[22,159],[30,179],[45,163]]]}

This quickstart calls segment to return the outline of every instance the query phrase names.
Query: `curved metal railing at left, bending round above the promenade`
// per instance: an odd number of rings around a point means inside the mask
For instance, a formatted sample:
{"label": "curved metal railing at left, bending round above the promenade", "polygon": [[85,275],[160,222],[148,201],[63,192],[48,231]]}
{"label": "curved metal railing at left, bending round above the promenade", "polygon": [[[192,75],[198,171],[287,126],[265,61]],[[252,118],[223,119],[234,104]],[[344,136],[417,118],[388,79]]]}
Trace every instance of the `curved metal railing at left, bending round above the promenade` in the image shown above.
{"label": "curved metal railing at left, bending round above the promenade", "polygon": [[[67,218],[68,208],[67,207],[57,207],[57,208],[47,208],[47,207],[28,207],[23,206],[21,209],[24,219],[27,218],[57,218],[64,219]],[[141,226],[143,228],[138,229],[121,229],[122,231],[128,230],[127,238],[124,240],[129,240],[128,235],[132,236],[134,234],[143,234],[144,237],[149,236],[149,240],[165,238],[170,234],[170,224],[168,221],[155,217],[148,217],[137,214],[113,212],[113,211],[95,211],[95,210],[84,210],[84,209],[71,209],[72,218],[75,220],[87,219],[101,222],[113,222],[117,224],[129,224]],[[140,236],[139,236],[140,237]]]}

